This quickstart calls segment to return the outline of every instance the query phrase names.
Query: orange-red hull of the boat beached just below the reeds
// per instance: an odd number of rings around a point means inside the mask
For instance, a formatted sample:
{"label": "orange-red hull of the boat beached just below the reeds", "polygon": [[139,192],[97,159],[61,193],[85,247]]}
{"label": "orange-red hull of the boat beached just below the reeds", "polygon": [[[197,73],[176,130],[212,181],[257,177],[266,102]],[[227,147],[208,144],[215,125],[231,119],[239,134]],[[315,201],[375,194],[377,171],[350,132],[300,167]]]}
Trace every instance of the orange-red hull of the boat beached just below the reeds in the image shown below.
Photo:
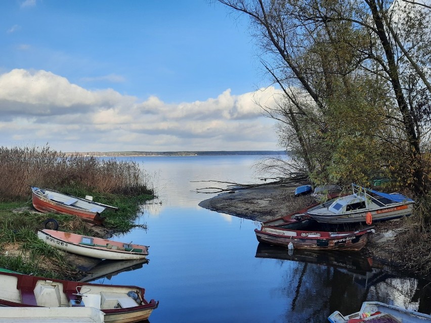
{"label": "orange-red hull of the boat beached just below the reeds", "polygon": [[103,224],[105,218],[100,216],[99,212],[92,212],[89,210],[69,206],[62,204],[60,202],[56,202],[41,195],[38,195],[34,191],[32,191],[32,203],[33,207],[42,213],[60,213],[67,215],[75,215],[82,220],[94,222],[95,224]]}

